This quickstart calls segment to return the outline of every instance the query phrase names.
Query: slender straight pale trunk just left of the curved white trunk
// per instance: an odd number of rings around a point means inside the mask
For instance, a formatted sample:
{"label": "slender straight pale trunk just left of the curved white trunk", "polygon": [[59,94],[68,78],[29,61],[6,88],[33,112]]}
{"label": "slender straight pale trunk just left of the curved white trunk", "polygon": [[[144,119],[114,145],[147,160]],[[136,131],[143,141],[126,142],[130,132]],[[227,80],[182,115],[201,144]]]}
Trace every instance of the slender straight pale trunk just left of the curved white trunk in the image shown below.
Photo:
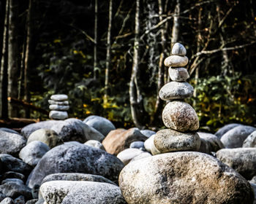
{"label": "slender straight pale trunk just left of the curved white trunk", "polygon": [[109,95],[109,68],[111,62],[111,27],[112,27],[112,9],[113,0],[109,2],[109,13],[108,13],[108,40],[107,40],[107,57],[106,57],[106,69],[105,69],[105,95],[104,103],[108,102]]}

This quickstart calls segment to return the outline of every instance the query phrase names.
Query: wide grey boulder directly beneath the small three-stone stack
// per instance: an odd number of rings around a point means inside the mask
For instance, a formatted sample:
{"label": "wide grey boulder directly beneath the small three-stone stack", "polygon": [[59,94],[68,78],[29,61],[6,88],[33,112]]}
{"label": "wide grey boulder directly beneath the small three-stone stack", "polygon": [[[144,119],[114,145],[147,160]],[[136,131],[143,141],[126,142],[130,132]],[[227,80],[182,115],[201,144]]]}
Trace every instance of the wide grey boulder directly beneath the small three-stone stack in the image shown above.
{"label": "wide grey boulder directly beneath the small three-stone stack", "polygon": [[85,143],[89,140],[102,141],[105,137],[102,133],[83,123],[80,119],[69,118],[59,121],[51,127],[56,131],[62,141],[79,141]]}

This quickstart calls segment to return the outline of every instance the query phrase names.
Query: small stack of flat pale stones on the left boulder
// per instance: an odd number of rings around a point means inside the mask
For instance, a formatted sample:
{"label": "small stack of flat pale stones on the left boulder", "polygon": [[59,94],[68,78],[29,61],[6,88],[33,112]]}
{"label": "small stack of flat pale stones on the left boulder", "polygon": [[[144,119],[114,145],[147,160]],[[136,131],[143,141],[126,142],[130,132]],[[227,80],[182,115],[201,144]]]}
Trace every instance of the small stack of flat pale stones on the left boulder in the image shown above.
{"label": "small stack of flat pale stones on the left boulder", "polygon": [[50,106],[50,119],[67,119],[67,110],[69,109],[68,97],[65,94],[51,95],[48,100]]}

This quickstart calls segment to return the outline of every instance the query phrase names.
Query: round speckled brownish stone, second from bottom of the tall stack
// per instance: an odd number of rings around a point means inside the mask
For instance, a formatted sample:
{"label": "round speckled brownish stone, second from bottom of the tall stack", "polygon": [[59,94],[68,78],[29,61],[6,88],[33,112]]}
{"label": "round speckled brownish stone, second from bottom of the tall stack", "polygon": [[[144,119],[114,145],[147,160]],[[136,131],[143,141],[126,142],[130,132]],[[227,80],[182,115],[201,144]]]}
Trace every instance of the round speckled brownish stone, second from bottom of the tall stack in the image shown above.
{"label": "round speckled brownish stone, second from bottom of the tall stack", "polygon": [[173,101],[167,103],[162,111],[165,126],[180,132],[195,131],[199,128],[199,120],[195,110],[189,103]]}

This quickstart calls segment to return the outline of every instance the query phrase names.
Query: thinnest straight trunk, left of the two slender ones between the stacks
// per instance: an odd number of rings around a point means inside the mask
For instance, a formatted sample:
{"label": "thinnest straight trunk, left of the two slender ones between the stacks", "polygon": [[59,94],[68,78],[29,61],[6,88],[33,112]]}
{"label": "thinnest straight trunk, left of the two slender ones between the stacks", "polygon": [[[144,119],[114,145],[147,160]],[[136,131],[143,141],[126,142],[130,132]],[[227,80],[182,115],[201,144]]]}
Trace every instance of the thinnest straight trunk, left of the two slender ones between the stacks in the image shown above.
{"label": "thinnest straight trunk, left of the two slender ones between the stacks", "polygon": [[95,14],[94,14],[94,79],[99,77],[99,68],[98,68],[98,61],[97,61],[97,46],[98,46],[98,0],[95,0]]}

